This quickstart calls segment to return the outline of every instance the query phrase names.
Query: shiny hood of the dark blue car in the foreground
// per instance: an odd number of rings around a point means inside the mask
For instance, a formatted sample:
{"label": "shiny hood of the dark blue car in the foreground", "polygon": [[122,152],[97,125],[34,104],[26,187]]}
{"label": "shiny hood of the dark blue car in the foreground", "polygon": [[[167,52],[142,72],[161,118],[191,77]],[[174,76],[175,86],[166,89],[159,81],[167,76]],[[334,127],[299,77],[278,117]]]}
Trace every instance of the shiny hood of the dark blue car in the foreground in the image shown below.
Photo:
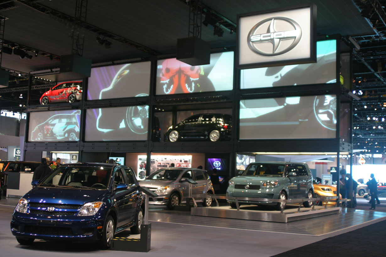
{"label": "shiny hood of the dark blue car in the foreground", "polygon": [[34,203],[83,205],[87,202],[96,201],[105,192],[106,190],[36,187],[23,197]]}

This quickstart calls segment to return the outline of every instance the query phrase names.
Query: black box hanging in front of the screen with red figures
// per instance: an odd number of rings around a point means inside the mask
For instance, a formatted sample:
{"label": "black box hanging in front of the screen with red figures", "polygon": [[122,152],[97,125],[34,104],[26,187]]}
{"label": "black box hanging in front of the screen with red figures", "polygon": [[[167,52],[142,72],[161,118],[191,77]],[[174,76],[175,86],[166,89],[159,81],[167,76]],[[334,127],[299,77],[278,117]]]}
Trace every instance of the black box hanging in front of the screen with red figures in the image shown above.
{"label": "black box hanging in front of the screen with red figures", "polygon": [[210,44],[198,37],[179,38],[177,60],[191,66],[210,64]]}

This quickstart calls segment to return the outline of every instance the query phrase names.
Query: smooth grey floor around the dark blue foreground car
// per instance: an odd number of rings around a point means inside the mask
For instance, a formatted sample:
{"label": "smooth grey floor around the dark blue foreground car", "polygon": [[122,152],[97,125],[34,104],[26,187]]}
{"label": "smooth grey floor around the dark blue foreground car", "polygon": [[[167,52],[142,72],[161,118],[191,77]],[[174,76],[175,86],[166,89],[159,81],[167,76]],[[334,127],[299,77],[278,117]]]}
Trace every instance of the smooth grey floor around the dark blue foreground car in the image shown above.
{"label": "smooth grey floor around the dark blue foreground car", "polygon": [[[176,224],[172,223],[173,218],[188,219],[189,215],[186,213],[174,213],[170,215],[168,211],[163,208],[151,208],[149,212],[149,219],[152,223],[152,241],[151,250],[147,253],[140,252],[120,252],[109,250],[95,250],[95,243],[59,243],[59,242],[46,242],[42,240],[36,240],[31,246],[20,246],[17,243],[14,236],[10,232],[9,221],[14,210],[14,206],[17,203],[17,199],[3,199],[0,201],[0,256],[272,256],[285,252],[297,247],[307,245],[309,243],[320,241],[324,238],[339,235],[351,230],[355,230],[366,225],[376,223],[386,219],[386,199],[381,199],[381,205],[377,205],[377,211],[370,211],[369,204],[365,199],[358,198],[359,209],[364,209],[362,213],[366,213],[367,216],[376,217],[376,220],[362,220],[365,223],[356,223],[354,226],[342,228],[335,232],[329,232],[321,236],[314,235],[300,235],[296,233],[280,233],[269,232],[277,230],[277,223],[270,223],[264,221],[249,221],[257,226],[256,222],[263,223],[265,231],[254,231],[239,228],[239,220],[230,219],[217,219],[217,222],[223,224],[223,227],[211,227],[211,223],[208,222],[210,217],[193,217],[194,225]],[[330,218],[335,220],[341,220],[341,223],[345,218],[345,211],[342,214],[330,215]],[[374,215],[371,215],[373,213]],[[376,214],[376,215],[375,215]],[[176,216],[175,216],[176,215]],[[169,217],[169,221],[165,222],[164,219]],[[334,217],[335,216],[335,217]],[[339,216],[338,219],[337,216]],[[328,216],[327,216],[328,217]],[[200,220],[196,220],[199,218]],[[320,229],[323,229],[325,222],[320,222],[321,218],[314,218],[313,223],[319,224]],[[308,220],[308,224],[311,220]],[[327,222],[328,220],[326,220]],[[191,221],[189,221],[191,222]],[[245,221],[243,221],[245,222]],[[298,221],[294,221],[298,222]],[[186,221],[188,223],[188,221]],[[198,224],[197,224],[198,223]],[[202,223],[202,224],[201,224]],[[290,223],[288,223],[290,224]],[[305,223],[299,221],[292,227],[299,227],[304,229]],[[227,226],[227,227],[226,227]],[[270,228],[272,230],[270,230]],[[119,235],[125,235],[125,232]],[[322,255],[322,253],[320,253]],[[312,254],[313,256],[315,253]],[[320,256],[321,256],[320,255]]]}

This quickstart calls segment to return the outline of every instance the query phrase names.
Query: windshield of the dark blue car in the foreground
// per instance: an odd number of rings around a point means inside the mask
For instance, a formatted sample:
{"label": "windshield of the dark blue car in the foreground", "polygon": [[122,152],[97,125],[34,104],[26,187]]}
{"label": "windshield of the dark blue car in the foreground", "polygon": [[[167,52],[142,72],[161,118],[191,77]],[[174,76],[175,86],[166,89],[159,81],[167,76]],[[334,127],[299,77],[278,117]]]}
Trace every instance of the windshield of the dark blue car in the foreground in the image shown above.
{"label": "windshield of the dark blue car in the foreground", "polygon": [[59,166],[39,186],[106,189],[111,171],[109,167]]}

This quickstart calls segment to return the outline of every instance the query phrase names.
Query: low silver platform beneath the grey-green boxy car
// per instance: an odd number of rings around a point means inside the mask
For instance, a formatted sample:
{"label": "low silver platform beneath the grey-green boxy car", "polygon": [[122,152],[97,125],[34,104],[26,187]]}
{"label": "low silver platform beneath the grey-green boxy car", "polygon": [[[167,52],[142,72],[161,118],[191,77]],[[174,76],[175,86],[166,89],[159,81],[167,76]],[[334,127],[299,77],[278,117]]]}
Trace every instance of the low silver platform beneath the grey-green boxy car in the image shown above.
{"label": "low silver platform beneath the grey-green boxy car", "polygon": [[239,211],[230,208],[230,206],[196,207],[191,208],[190,214],[195,216],[287,223],[295,220],[305,220],[340,213],[340,207],[324,208],[324,206],[315,206],[314,210],[312,210],[313,208],[311,207],[300,208],[300,211],[298,211],[298,207],[298,205],[287,205],[283,213],[275,210],[267,210],[267,207],[262,208],[262,206],[254,205],[241,205]]}

